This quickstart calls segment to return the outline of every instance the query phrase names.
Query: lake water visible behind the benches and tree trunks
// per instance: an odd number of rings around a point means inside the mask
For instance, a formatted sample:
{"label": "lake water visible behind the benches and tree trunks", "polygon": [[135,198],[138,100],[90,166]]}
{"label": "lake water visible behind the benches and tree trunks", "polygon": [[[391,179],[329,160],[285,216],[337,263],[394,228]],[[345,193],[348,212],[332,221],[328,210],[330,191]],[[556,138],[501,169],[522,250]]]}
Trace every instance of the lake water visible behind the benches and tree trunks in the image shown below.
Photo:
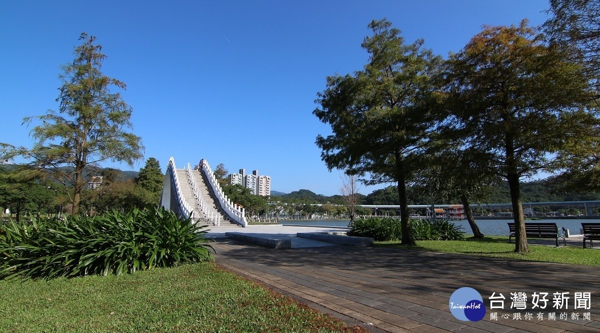
{"label": "lake water visible behind the benches and tree trunks", "polygon": [[[463,227],[463,231],[467,235],[473,235],[471,231],[471,227],[469,226],[469,222],[467,220],[458,220],[451,221],[455,225]],[[477,222],[477,226],[479,226],[479,231],[484,235],[496,235],[496,236],[508,236],[508,225],[506,223],[512,222],[512,220],[475,220]],[[581,222],[592,222],[599,223],[600,219],[592,220],[592,219],[545,219],[539,221],[526,221],[527,222],[554,222],[556,225],[561,228],[569,229],[571,235],[578,235],[581,229]],[[348,220],[310,220],[310,221],[290,221],[280,220],[279,223],[282,224],[293,224],[293,225],[325,225],[325,226],[347,226]]]}

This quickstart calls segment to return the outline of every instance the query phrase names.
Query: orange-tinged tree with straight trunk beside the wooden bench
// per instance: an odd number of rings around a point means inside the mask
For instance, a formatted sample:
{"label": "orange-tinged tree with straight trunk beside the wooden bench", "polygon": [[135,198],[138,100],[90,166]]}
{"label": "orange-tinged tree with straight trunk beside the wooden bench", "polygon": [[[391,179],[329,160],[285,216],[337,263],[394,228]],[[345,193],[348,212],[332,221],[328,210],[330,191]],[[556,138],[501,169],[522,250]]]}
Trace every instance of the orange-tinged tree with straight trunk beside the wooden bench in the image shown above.
{"label": "orange-tinged tree with straight trunk beside the wooden bench", "polygon": [[[553,153],[592,133],[593,92],[568,52],[544,44],[523,20],[520,26],[485,26],[446,69],[447,122],[469,149],[487,152],[493,171],[508,181],[516,237],[515,252],[528,252],[521,177],[559,166]],[[473,158],[473,157],[472,157]]]}

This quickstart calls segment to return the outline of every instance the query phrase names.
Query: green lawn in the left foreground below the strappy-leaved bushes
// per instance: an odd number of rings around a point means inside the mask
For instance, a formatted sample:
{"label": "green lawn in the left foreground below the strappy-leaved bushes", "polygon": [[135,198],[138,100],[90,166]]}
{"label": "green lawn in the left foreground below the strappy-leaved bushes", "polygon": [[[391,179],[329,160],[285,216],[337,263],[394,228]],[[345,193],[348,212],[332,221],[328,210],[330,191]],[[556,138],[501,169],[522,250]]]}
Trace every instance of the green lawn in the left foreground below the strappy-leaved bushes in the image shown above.
{"label": "green lawn in the left foreground below the strappy-leaved bushes", "polygon": [[0,332],[364,332],[212,262],[0,281]]}

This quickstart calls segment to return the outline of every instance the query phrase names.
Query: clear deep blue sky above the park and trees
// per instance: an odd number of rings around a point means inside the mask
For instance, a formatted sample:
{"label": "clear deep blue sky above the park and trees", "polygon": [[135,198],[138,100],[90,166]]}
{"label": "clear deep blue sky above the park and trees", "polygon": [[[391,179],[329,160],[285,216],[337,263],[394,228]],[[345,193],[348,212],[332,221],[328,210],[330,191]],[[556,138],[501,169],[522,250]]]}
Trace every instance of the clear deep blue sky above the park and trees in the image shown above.
{"label": "clear deep blue sky above the park and trees", "polygon": [[178,168],[205,158],[229,172],[258,169],[272,190],[339,194],[341,172],[327,170],[314,144],[331,133],[312,114],[314,99],[327,75],[363,68],[371,20],[386,17],[407,43],[424,38],[446,57],[482,25],[539,25],[547,8],[542,0],[1,1],[0,142],[32,146],[22,119],[58,109],[59,66],[87,32],[108,56],[104,74],[127,84],[133,132],[163,171],[170,156]]}

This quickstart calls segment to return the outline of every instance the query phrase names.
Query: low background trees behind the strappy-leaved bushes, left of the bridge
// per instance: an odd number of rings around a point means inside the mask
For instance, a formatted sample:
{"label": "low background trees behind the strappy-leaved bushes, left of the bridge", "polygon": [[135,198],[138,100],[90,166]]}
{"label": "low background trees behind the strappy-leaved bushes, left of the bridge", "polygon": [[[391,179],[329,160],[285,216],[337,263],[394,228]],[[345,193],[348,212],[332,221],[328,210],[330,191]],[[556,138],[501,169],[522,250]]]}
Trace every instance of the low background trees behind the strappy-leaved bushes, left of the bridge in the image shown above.
{"label": "low background trees behind the strappy-leaved bushes, left of the bridge", "polygon": [[[61,217],[64,213],[72,214],[74,187],[65,187],[47,178],[26,178],[24,175],[30,171],[26,165],[0,168],[1,213],[9,210],[10,216],[17,221],[28,215]],[[155,158],[149,158],[133,178],[124,177],[122,171],[112,168],[84,172],[84,175],[85,184],[95,175],[102,177],[102,181],[94,189],[82,190],[79,213],[94,215],[110,210],[143,210],[157,207],[160,201],[164,175]]]}

